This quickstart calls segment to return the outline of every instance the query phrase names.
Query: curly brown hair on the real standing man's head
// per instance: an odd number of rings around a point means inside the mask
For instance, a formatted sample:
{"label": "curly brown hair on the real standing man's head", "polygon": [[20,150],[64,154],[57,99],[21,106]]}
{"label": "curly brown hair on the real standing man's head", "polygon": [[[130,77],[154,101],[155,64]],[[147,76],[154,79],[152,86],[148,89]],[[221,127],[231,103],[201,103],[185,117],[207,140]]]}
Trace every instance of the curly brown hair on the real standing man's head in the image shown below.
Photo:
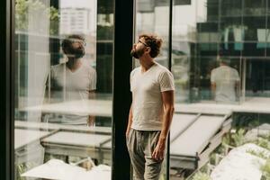
{"label": "curly brown hair on the real standing man's head", "polygon": [[143,38],[145,40],[145,43],[148,45],[148,47],[151,48],[150,57],[156,58],[160,52],[162,40],[158,38],[157,35],[155,34],[140,34],[139,39],[140,38]]}

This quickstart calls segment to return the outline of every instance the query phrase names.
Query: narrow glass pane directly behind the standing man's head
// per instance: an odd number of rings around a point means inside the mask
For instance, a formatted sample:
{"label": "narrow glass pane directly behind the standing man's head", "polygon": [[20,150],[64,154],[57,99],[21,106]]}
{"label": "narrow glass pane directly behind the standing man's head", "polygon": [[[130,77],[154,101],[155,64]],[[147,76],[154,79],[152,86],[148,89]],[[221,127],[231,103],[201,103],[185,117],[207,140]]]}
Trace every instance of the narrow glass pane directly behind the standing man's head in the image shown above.
{"label": "narrow glass pane directly behind the standing man's head", "polygon": [[[135,42],[143,33],[154,33],[160,37],[163,43],[155,61],[164,67],[168,67],[169,2],[137,0],[135,10]],[[135,59],[134,64],[139,67],[139,60]],[[166,179],[166,160],[163,162],[160,179]]]}

